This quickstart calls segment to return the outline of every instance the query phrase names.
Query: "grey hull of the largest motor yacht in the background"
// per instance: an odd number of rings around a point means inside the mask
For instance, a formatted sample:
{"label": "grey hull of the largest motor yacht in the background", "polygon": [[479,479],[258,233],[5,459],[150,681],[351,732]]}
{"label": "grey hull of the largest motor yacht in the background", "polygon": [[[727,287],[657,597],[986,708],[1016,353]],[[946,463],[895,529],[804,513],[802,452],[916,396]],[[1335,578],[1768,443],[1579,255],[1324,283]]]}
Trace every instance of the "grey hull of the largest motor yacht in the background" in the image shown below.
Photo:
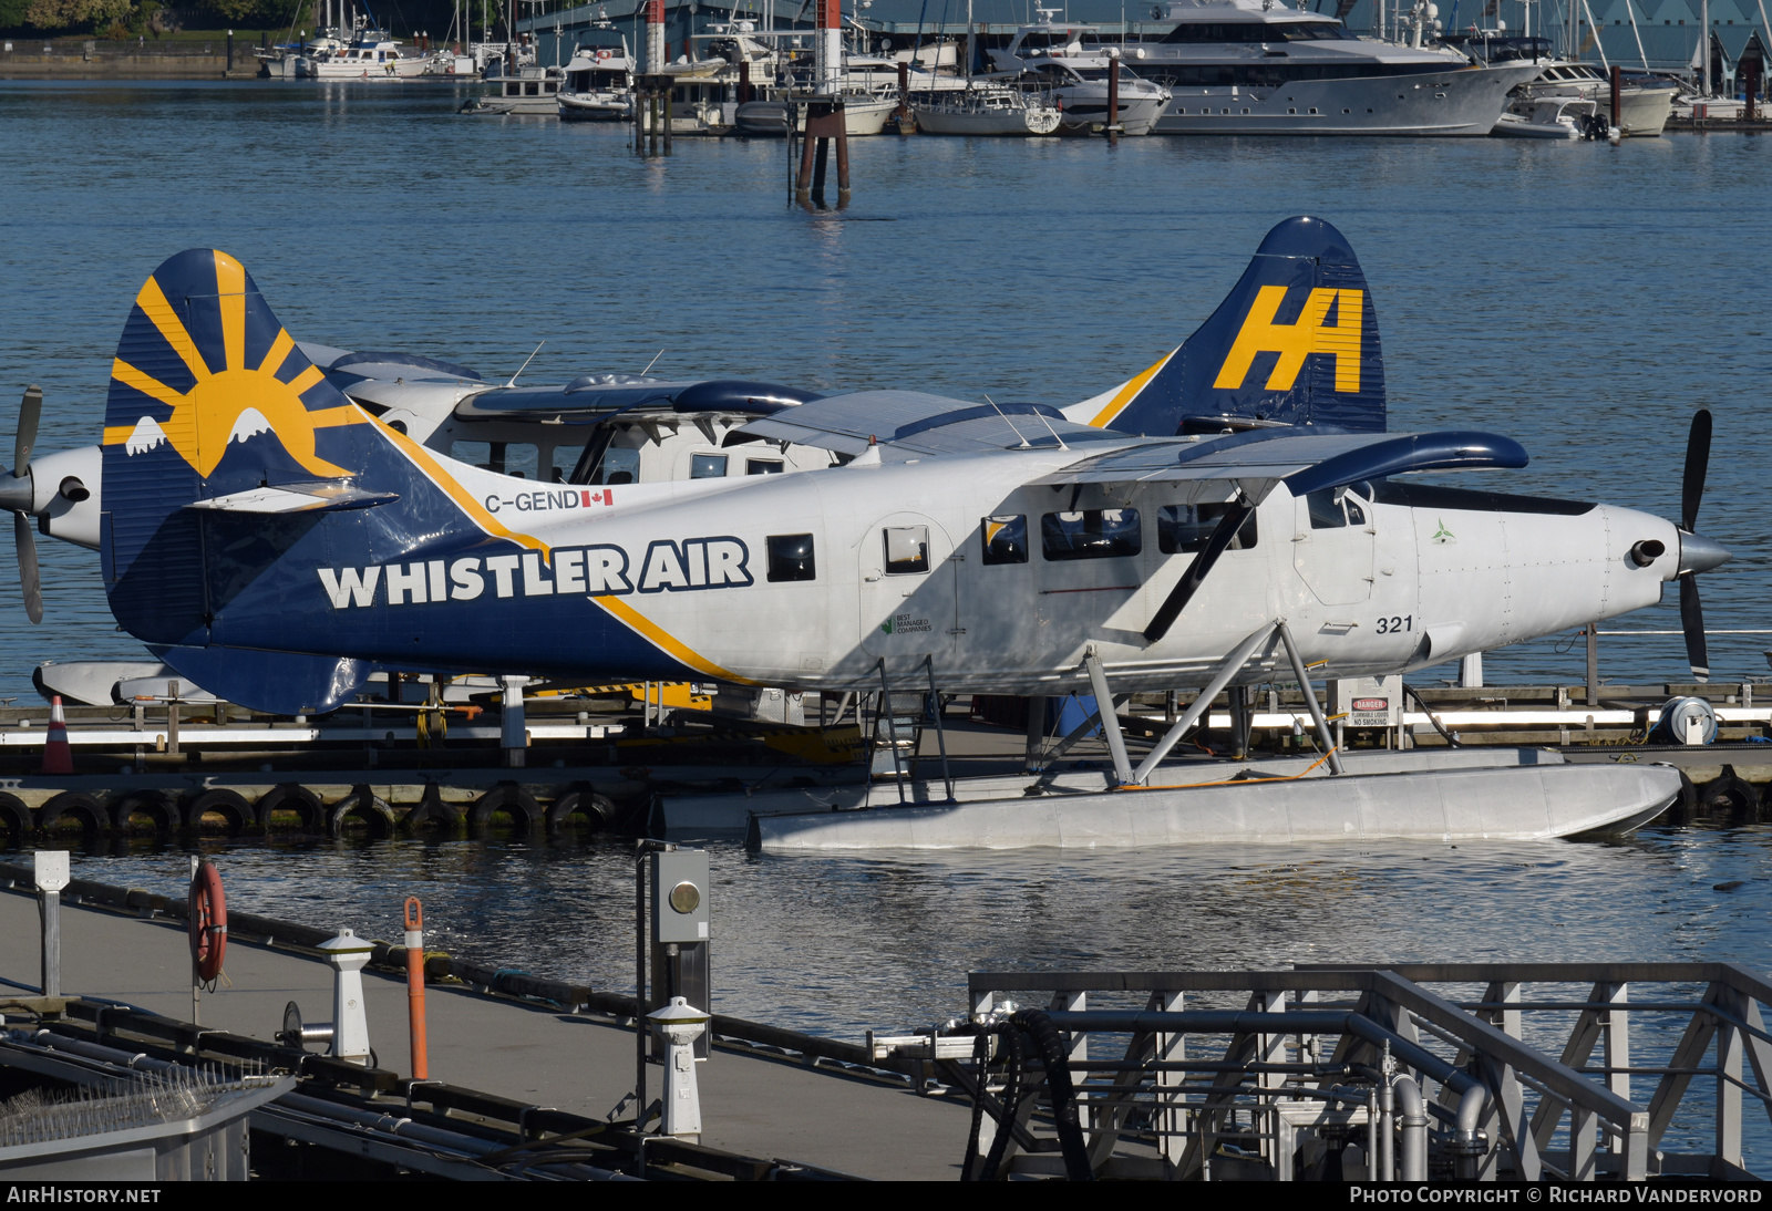
{"label": "grey hull of the largest motor yacht in the background", "polygon": [[[1154,66],[1139,66],[1155,73]],[[1157,135],[1485,136],[1531,64],[1458,67],[1363,80],[1299,80],[1274,89],[1171,87]]]}

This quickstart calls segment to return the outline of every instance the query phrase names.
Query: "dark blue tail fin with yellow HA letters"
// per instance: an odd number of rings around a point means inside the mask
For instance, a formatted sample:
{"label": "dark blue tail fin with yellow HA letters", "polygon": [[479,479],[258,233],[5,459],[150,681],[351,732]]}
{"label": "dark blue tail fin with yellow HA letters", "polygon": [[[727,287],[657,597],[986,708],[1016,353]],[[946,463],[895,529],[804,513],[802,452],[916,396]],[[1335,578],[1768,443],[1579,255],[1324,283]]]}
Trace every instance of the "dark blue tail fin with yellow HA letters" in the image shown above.
{"label": "dark blue tail fin with yellow HA letters", "polygon": [[1285,220],[1212,319],[1081,420],[1154,437],[1260,425],[1384,432],[1379,322],[1354,250],[1322,220]]}

